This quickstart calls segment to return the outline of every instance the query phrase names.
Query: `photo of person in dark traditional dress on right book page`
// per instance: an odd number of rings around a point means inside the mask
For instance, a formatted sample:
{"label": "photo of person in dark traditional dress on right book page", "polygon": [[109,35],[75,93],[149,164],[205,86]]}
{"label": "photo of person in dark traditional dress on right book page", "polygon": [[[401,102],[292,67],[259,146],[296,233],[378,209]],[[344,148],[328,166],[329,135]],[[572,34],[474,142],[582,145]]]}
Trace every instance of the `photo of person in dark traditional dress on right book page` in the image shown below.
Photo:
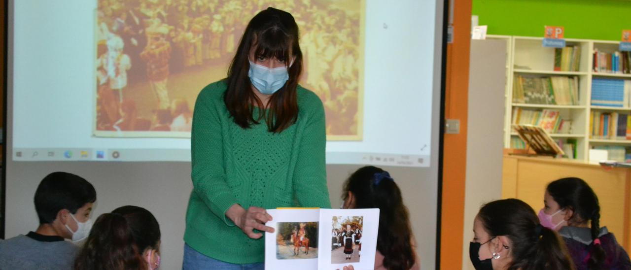
{"label": "photo of person in dark traditional dress on right book page", "polygon": [[331,225],[331,264],[359,262],[362,256],[363,216],[333,216]]}

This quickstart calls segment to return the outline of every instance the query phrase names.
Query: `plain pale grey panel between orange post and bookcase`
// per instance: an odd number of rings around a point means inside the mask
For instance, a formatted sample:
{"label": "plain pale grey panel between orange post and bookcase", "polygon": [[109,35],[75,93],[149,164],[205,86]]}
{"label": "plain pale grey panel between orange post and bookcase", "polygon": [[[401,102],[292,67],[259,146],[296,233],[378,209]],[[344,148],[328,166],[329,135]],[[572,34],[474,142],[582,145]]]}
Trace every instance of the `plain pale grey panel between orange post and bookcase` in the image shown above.
{"label": "plain pale grey panel between orange post and bookcase", "polygon": [[463,269],[474,269],[469,242],[480,206],[502,196],[506,46],[503,40],[471,40]]}

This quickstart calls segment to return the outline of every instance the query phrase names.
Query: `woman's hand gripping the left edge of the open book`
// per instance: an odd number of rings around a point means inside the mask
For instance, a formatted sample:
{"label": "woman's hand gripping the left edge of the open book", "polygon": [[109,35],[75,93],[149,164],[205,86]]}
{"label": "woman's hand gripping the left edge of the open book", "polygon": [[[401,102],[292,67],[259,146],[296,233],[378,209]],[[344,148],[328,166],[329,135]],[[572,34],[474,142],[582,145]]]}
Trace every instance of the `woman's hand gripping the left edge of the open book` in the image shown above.
{"label": "woman's hand gripping the left edge of the open book", "polygon": [[274,228],[265,226],[265,223],[272,220],[272,216],[265,209],[256,206],[250,206],[245,210],[239,204],[233,204],[226,211],[226,216],[239,227],[247,237],[258,239],[263,236],[262,233],[254,233],[254,230],[261,232],[273,233]]}

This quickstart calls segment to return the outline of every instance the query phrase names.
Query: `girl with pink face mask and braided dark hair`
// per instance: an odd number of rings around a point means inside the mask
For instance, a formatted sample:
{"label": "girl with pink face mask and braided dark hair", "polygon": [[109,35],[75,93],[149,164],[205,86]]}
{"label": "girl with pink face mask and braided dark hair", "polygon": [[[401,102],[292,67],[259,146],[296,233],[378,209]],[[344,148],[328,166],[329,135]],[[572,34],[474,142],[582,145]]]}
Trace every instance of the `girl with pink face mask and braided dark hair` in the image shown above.
{"label": "girl with pink face mask and braided dark hair", "polygon": [[564,178],[548,184],[541,225],[558,230],[576,269],[631,269],[627,252],[607,227],[600,227],[598,197],[579,178]]}

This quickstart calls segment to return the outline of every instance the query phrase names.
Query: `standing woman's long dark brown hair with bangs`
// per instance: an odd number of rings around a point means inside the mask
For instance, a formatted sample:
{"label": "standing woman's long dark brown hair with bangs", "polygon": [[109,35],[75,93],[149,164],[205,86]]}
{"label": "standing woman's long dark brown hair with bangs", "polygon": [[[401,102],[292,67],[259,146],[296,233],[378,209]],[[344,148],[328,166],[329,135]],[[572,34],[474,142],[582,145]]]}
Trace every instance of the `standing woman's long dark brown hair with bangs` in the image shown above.
{"label": "standing woman's long dark brown hair with bangs", "polygon": [[[225,79],[228,89],[223,95],[228,112],[240,127],[247,129],[264,119],[270,132],[281,132],[298,119],[297,87],[302,73],[302,51],[298,36],[298,25],[293,16],[280,9],[265,9],[248,23],[228,69],[228,78]],[[256,48],[256,59],[274,57],[285,60],[288,66],[289,79],[269,98],[267,113],[262,109],[266,104],[252,91],[248,76],[248,57],[252,47]],[[293,64],[290,63],[292,60]],[[254,110],[259,110],[257,119],[254,119]]]}

